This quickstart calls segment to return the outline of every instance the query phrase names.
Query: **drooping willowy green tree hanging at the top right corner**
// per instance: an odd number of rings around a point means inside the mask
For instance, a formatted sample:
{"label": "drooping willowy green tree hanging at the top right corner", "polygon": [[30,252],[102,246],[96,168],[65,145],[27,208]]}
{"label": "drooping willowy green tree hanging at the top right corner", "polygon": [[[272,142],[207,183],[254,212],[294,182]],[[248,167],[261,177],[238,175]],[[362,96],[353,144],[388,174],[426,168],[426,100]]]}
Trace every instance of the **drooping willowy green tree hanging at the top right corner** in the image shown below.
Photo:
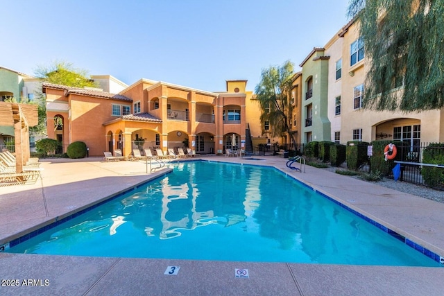
{"label": "drooping willowy green tree hanging at the top right corner", "polygon": [[364,108],[444,106],[444,0],[351,0],[348,14],[359,21],[371,61]]}

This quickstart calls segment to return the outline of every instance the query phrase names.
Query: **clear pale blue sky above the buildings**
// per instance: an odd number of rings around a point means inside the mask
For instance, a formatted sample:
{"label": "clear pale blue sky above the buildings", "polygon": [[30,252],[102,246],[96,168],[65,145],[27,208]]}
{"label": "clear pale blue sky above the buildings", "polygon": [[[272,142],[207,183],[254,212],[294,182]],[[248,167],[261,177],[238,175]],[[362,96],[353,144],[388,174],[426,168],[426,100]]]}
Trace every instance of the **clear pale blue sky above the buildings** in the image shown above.
{"label": "clear pale blue sky above the buildings", "polygon": [[128,85],[140,78],[210,92],[291,60],[348,22],[349,0],[0,0],[0,66],[33,75],[70,62]]}

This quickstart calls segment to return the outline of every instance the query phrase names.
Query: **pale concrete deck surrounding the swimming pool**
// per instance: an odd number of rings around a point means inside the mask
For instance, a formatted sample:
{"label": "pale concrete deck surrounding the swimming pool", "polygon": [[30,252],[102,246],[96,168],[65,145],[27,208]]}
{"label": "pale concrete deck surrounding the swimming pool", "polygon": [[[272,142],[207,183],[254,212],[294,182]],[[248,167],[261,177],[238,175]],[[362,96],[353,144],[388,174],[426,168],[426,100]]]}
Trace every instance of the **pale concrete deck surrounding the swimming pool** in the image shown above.
{"label": "pale concrete deck surrounding the swimming pool", "polygon": [[[202,157],[275,166],[444,256],[444,204],[282,157]],[[0,187],[0,245],[144,182],[144,162],[44,159],[35,184]],[[444,194],[444,193],[443,193]],[[177,275],[164,275],[179,266]],[[235,269],[248,270],[236,278]],[[0,295],[443,295],[444,268],[186,261],[0,253]],[[17,281],[15,281],[17,280]],[[28,281],[31,280],[31,281]],[[47,281],[45,281],[47,280]],[[18,286],[12,286],[17,284]],[[28,284],[28,286],[25,286]]]}

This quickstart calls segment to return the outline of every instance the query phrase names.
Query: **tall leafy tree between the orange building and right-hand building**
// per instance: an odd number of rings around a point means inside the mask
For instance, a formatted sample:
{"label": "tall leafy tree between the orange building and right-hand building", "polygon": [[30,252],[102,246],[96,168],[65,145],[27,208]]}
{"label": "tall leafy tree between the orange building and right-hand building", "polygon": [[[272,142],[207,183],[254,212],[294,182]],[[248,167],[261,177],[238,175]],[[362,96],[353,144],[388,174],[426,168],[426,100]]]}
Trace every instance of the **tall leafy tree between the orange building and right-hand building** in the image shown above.
{"label": "tall leafy tree between the orange building and right-hand building", "polygon": [[290,61],[284,62],[280,67],[271,66],[263,69],[255,93],[261,107],[262,132],[266,132],[264,123],[268,121],[271,130],[267,132],[271,132],[271,137],[278,137],[287,132],[296,147],[296,139],[290,128],[293,107],[289,104],[293,69],[294,65]]}

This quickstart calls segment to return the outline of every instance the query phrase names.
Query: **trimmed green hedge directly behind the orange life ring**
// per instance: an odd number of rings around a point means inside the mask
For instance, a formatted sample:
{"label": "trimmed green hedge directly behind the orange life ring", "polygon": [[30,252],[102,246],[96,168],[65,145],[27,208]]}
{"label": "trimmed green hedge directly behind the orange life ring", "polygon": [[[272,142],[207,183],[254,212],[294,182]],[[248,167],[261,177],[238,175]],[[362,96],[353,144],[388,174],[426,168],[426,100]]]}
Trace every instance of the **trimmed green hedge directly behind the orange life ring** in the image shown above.
{"label": "trimmed green hedge directly behind the orange life ring", "polygon": [[[402,160],[401,151],[398,151],[395,159],[385,160],[384,149],[389,143],[395,144],[396,147],[402,147],[402,141],[380,140],[373,141],[373,156],[370,157],[370,166],[373,172],[382,173],[382,175],[390,175],[392,168],[395,166],[395,160]],[[398,149],[397,149],[398,150]]]}

